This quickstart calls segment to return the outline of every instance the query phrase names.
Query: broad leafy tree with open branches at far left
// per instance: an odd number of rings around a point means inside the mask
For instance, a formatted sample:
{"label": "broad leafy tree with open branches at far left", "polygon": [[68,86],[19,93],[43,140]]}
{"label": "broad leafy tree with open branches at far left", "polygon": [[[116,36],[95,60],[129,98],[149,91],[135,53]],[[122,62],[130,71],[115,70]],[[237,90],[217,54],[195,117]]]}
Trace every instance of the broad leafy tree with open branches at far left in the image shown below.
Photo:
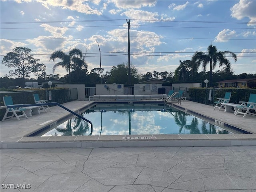
{"label": "broad leafy tree with open branches at far left", "polygon": [[39,72],[44,72],[46,66],[38,63],[40,59],[35,59],[31,54],[32,50],[26,47],[16,47],[12,52],[8,52],[4,56],[2,63],[10,70],[10,76],[18,76],[22,78],[22,84],[25,85],[25,78],[30,77],[30,74],[38,75]]}

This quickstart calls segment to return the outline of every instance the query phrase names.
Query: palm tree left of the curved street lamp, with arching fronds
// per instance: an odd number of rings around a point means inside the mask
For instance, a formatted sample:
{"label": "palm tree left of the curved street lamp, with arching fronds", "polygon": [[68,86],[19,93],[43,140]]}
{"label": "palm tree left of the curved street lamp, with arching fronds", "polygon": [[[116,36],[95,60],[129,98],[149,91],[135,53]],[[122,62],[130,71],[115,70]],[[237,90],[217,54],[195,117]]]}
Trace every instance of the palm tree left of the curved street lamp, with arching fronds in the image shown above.
{"label": "palm tree left of the curved street lamp, with arching fronds", "polygon": [[58,66],[62,66],[68,72],[69,82],[71,82],[70,68],[72,68],[72,66],[74,68],[74,66],[76,65],[74,62],[77,62],[77,59],[81,60],[82,56],[82,51],[77,48],[69,50],[68,54],[65,54],[63,51],[60,50],[54,51],[53,54],[50,56],[50,60],[53,60],[54,62],[56,58],[59,58],[61,62],[58,62],[53,66],[52,72],[54,72]]}

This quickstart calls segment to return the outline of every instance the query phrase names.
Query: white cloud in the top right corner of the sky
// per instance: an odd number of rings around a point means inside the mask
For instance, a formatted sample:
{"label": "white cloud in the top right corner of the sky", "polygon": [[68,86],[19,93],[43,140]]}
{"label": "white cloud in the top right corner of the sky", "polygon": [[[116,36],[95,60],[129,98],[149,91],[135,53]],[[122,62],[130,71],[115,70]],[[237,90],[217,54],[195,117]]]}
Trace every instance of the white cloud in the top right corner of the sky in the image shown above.
{"label": "white cloud in the top right corner of the sky", "polygon": [[[256,8],[256,1],[245,1],[240,0],[239,3],[235,4],[230,10],[232,11],[231,16],[241,20],[245,17],[248,17],[250,19],[248,26],[256,25],[256,14],[255,14],[255,8]],[[250,23],[254,22],[254,24]]]}

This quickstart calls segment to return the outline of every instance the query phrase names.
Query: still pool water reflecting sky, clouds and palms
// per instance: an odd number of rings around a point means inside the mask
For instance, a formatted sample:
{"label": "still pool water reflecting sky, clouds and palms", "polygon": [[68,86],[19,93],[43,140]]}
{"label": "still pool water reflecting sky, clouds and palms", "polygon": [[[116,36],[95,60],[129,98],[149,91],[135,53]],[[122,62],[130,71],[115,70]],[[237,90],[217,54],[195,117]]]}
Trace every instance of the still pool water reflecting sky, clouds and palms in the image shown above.
{"label": "still pool water reflecting sky, clouds and palms", "polygon": [[[81,116],[92,122],[92,135],[234,133],[163,103],[95,104]],[[89,135],[90,132],[90,124],[75,116],[42,136]]]}

